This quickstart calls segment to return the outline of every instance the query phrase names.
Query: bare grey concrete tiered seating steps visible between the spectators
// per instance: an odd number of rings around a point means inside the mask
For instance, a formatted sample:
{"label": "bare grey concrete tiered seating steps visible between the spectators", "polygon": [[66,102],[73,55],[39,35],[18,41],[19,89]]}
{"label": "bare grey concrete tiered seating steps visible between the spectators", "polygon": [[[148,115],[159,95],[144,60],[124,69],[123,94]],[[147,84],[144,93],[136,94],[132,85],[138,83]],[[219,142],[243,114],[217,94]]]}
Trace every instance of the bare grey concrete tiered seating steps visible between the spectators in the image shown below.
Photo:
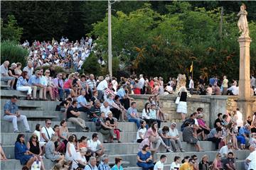
{"label": "bare grey concrete tiered seating steps visible between the spectators", "polygon": [[[20,98],[26,96],[25,93],[19,91],[6,91],[1,90],[1,144],[6,153],[6,157],[9,161],[1,162],[1,169],[21,169],[21,164],[18,160],[14,159],[14,143],[16,141],[16,136],[18,134],[13,132],[13,127],[11,123],[7,123],[6,121],[2,120],[3,117],[3,106],[6,101],[10,99],[12,95],[17,95]],[[60,120],[63,119],[63,113],[55,111],[55,106],[59,102],[55,101],[25,101],[25,100],[18,100],[18,106],[21,109],[21,113],[28,117],[28,123],[31,127],[31,131],[35,130],[36,124],[40,123],[44,125],[44,120],[46,118],[52,120],[52,127],[55,124],[59,124]],[[86,118],[86,115],[83,115],[82,118]],[[68,128],[70,132],[75,132],[78,135],[78,138],[82,135],[91,137],[92,133],[95,132],[95,125],[92,122],[86,121],[86,125],[90,128],[90,132],[81,132],[80,128],[73,123],[68,123]],[[170,125],[170,123],[162,123],[162,125]],[[178,130],[180,130],[181,124],[177,124]],[[18,128],[21,132],[25,131],[22,123],[18,123]],[[138,145],[134,140],[136,139],[137,134],[137,127],[134,123],[119,123],[119,129],[121,132],[121,140],[122,143],[114,143],[114,144],[104,144],[106,148],[106,154],[110,155],[110,162],[114,162],[114,157],[122,157],[124,164],[126,164],[126,168],[129,170],[139,170],[140,168],[137,167],[137,148]],[[100,140],[102,141],[102,135],[99,133]],[[31,137],[31,133],[26,133],[26,141],[28,141],[29,137]],[[164,153],[167,155],[168,159],[166,162],[166,166],[164,169],[169,169],[171,162],[173,162],[175,156],[185,157],[186,155],[196,154],[198,159],[201,159],[203,154],[207,154],[210,161],[213,161],[215,158],[215,147],[213,142],[208,141],[201,141],[201,146],[205,150],[205,152],[195,152],[196,149],[192,145],[187,144],[186,142],[182,142],[183,149],[186,152],[178,152],[178,153]],[[164,148],[160,149],[161,152],[165,152]],[[163,153],[158,153],[157,157],[159,158],[160,155]],[[238,159],[236,159],[236,164],[238,169],[244,169],[244,160],[249,154],[249,151],[237,151],[235,155]],[[50,162],[48,159],[43,159],[45,162],[46,169],[50,169],[53,166],[53,162]]]}

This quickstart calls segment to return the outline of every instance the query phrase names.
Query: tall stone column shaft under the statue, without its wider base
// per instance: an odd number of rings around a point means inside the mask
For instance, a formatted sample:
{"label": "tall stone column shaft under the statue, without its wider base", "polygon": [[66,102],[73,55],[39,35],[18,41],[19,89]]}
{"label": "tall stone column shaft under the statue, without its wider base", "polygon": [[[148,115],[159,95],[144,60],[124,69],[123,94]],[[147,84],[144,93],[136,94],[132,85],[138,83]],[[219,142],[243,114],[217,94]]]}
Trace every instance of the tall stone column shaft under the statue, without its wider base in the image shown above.
{"label": "tall stone column shaft under the statue, without its wider base", "polygon": [[250,37],[240,37],[239,97],[250,98]]}

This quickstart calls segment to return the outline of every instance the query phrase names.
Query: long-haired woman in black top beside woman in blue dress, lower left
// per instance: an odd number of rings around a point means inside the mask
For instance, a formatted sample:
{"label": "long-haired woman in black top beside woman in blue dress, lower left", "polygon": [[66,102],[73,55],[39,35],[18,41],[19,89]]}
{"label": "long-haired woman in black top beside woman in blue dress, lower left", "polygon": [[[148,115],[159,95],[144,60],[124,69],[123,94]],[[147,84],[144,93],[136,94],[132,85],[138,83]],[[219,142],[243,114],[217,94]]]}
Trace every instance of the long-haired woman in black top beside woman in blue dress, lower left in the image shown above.
{"label": "long-haired woman in black top beside woman in blue dress, lower left", "polygon": [[26,145],[29,149],[29,151],[38,158],[38,160],[41,162],[41,169],[42,170],[45,170],[45,167],[43,165],[43,158],[42,158],[42,155],[43,155],[43,152],[42,152],[42,149],[39,145],[39,142],[38,142],[38,136],[33,133],[29,142],[27,142],[27,145]]}

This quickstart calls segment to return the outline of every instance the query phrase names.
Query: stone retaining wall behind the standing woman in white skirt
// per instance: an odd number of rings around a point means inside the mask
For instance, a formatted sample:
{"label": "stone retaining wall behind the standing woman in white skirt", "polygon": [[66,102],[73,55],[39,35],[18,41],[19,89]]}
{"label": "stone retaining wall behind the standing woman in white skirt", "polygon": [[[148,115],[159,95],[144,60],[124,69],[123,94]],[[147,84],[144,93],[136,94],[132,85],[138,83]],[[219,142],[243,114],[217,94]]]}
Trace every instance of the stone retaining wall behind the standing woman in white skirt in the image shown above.
{"label": "stone retaining wall behind the standing woman in white skirt", "polygon": [[[150,95],[131,95],[134,101],[137,103],[138,111],[142,112],[145,103]],[[176,113],[175,104],[176,97],[174,96],[160,96],[160,104],[162,111],[167,114],[167,118],[170,121],[181,122],[181,115]],[[203,113],[207,123],[210,122],[210,98],[201,98],[199,96],[193,96],[188,98],[188,116],[195,112],[197,108],[203,108]]]}

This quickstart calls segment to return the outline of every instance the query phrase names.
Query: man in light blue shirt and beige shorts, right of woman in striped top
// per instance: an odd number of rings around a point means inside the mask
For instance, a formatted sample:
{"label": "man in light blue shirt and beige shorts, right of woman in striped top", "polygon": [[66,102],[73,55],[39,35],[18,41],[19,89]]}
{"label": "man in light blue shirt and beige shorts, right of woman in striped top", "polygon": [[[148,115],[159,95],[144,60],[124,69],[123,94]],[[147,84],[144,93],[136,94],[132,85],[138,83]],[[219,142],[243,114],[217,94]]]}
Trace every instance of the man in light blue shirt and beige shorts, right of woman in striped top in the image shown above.
{"label": "man in light blue shirt and beige shorts, right of woman in striped top", "polygon": [[41,75],[42,73],[37,70],[35,75],[31,76],[28,80],[28,84],[31,85],[33,89],[33,99],[36,99],[36,91],[39,90],[39,98],[43,100],[43,91],[46,91],[46,86],[41,84]]}

